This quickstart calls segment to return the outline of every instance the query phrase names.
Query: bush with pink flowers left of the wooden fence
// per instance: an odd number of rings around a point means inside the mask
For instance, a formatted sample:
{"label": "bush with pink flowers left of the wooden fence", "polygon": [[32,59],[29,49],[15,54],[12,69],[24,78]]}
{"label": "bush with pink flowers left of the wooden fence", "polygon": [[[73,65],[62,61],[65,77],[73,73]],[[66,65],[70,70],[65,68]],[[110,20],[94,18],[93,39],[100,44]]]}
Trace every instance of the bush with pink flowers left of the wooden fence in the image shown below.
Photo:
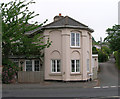
{"label": "bush with pink flowers left of the wooden fence", "polygon": [[3,59],[3,69],[2,69],[2,82],[4,84],[12,83],[15,76],[17,77],[17,72],[19,67],[8,59]]}

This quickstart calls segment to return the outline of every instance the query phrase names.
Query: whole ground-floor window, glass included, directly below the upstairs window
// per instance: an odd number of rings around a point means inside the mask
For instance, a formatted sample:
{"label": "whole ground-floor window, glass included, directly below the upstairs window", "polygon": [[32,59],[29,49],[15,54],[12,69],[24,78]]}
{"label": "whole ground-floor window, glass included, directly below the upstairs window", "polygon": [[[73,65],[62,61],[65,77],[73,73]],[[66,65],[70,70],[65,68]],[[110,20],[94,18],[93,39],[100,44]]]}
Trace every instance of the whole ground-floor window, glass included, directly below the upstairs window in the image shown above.
{"label": "whole ground-floor window, glass included, directly below the upstairs window", "polygon": [[80,72],[80,60],[71,60],[71,72],[72,73]]}

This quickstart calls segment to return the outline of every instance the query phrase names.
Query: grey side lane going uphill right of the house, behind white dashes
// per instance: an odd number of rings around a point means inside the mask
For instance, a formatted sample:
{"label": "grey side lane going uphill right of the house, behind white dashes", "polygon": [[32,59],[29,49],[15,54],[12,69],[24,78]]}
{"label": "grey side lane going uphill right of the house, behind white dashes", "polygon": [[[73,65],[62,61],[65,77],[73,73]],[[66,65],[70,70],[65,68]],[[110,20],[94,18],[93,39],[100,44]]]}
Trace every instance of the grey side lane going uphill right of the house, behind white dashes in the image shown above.
{"label": "grey side lane going uphill right of the house, behind white dashes", "polygon": [[100,86],[118,86],[119,75],[114,58],[110,58],[108,62],[100,63],[100,73],[98,74]]}

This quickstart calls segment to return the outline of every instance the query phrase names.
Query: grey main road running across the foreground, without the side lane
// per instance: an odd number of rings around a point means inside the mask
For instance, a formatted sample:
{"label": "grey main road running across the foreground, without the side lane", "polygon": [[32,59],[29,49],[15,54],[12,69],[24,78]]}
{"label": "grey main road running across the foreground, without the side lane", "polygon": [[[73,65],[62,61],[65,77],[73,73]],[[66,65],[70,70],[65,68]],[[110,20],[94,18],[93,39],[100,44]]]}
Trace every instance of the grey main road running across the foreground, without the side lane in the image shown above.
{"label": "grey main road running across the foreground, without the side lane", "polygon": [[117,88],[57,88],[4,91],[4,97],[116,97]]}

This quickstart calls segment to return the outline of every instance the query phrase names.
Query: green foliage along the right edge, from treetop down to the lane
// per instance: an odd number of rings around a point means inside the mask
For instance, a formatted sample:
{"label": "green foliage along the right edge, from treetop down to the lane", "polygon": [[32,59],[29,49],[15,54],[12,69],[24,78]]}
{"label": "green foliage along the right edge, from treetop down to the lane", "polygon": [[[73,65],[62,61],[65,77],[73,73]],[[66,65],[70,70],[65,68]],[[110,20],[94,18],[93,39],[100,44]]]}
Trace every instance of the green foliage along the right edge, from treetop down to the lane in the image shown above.
{"label": "green foliage along the right edge, from treetop down to the lane", "polygon": [[105,41],[109,43],[111,50],[115,51],[116,65],[120,68],[120,25],[114,25],[106,31],[108,36],[105,38]]}

